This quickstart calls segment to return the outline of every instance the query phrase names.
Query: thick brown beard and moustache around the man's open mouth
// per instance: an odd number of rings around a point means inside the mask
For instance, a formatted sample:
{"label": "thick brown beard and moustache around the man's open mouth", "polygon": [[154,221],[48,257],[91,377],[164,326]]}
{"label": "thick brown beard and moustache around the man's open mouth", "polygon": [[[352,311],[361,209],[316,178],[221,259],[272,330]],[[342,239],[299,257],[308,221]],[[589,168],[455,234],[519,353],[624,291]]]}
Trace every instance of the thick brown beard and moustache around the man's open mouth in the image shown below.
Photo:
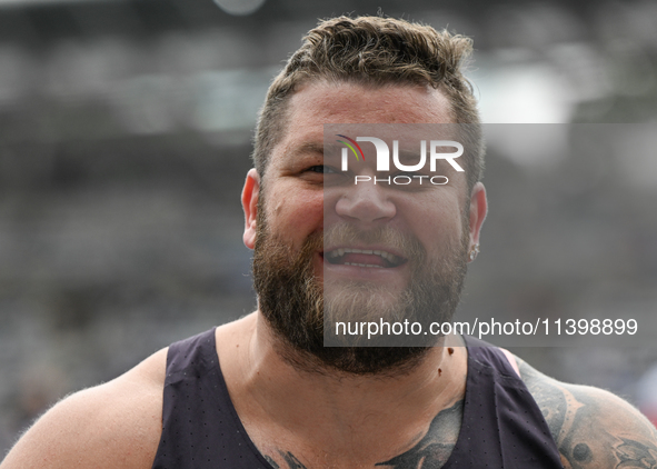
{"label": "thick brown beard and moustache around the man's open mouth", "polygon": [[[313,271],[313,257],[323,251],[323,233],[310,234],[301,249],[295,252],[289,242],[270,232],[262,200],[260,202],[253,286],[259,309],[281,340],[279,352],[286,360],[311,372],[337,370],[351,375],[396,376],[415,368],[428,350],[439,343],[438,337],[424,336],[428,341],[421,342],[418,336],[411,336],[406,339],[415,339],[415,342],[395,342],[394,347],[390,347],[390,337],[385,347],[372,347],[371,343],[376,345],[372,341],[367,347],[358,341],[342,347],[325,347],[325,327],[331,328],[336,318],[357,320],[375,315],[379,318],[385,316],[384,320],[389,321],[408,318],[422,323],[422,330],[428,330],[432,321],[451,321],[467,271],[468,230],[465,222],[460,243],[452,242],[446,247],[444,258],[432,262],[427,261],[418,241],[404,239],[389,230],[359,234],[350,226],[340,226],[329,231],[327,239],[331,237],[331,242],[338,239],[367,239],[371,242],[384,239],[387,246],[405,245],[404,251],[411,252],[409,261],[414,272],[410,287],[396,301],[388,302],[392,307],[386,308],[382,315],[381,302],[371,300],[377,297],[371,286],[347,286],[345,295],[335,296],[326,303],[326,317],[332,319],[325,325],[323,286]],[[390,245],[391,240],[396,240],[392,241],[395,245]]]}

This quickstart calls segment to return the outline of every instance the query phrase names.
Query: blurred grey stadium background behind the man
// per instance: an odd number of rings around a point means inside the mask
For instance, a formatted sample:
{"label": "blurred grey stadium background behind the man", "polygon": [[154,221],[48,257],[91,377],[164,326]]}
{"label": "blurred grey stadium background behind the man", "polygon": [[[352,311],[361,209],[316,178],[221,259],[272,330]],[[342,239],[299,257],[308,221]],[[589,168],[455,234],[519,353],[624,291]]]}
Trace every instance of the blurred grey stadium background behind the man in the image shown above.
{"label": "blurred grey stadium background behind the man", "polygon": [[[68,392],[253,309],[239,191],[265,91],[318,18],[378,11],[474,38],[486,122],[655,129],[655,1],[0,0],[0,455]],[[653,147],[491,150],[462,310],[657,312]],[[657,346],[515,351],[657,395]]]}

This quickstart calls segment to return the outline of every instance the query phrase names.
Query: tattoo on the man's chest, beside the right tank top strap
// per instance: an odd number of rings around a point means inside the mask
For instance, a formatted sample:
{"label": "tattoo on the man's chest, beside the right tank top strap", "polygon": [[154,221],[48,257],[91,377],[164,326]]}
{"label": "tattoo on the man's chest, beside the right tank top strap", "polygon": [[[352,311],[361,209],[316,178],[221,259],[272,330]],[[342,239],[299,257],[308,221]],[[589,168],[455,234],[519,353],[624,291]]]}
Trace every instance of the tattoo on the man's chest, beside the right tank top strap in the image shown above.
{"label": "tattoo on the man's chest, beside the right tank top strap", "polygon": [[458,439],[462,413],[462,400],[441,410],[431,421],[427,435],[415,447],[376,466],[396,469],[441,468]]}

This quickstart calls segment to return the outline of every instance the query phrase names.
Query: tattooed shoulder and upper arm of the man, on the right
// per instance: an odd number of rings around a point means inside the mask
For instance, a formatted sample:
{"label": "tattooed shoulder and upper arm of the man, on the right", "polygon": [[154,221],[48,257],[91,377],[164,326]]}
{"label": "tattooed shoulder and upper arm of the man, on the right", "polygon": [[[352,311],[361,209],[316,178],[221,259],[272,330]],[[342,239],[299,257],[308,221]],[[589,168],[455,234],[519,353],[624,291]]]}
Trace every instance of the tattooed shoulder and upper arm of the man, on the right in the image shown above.
{"label": "tattooed shoulder and upper arm of the man, on the right", "polygon": [[559,382],[516,360],[565,468],[657,468],[657,431],[638,410],[610,392]]}

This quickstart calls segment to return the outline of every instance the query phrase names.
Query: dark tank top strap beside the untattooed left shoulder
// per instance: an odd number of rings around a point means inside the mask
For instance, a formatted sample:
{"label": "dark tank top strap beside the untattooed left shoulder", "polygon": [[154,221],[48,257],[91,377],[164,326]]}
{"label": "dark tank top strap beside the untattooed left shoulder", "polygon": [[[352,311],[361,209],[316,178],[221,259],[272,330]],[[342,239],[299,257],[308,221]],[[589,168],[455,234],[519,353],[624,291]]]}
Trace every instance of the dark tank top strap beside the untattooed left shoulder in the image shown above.
{"label": "dark tank top strap beside the untattooed left shoulder", "polygon": [[215,329],[169,347],[153,469],[272,469],[247,435],[221,373]]}

